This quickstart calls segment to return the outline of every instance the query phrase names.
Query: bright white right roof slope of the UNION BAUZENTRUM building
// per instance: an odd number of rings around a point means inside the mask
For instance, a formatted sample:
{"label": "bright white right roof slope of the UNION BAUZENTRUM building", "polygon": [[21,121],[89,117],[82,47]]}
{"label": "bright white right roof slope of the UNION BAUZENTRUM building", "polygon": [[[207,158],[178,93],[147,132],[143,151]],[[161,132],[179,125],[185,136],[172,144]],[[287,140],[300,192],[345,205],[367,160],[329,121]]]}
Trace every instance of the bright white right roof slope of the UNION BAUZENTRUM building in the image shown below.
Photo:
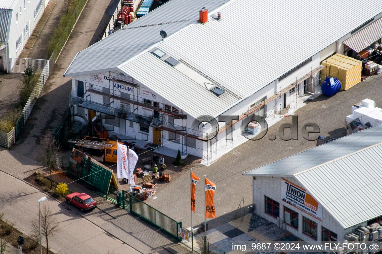
{"label": "bright white right roof slope of the UNION BAUZENTRUM building", "polygon": [[376,145],[300,172],[295,178],[349,228],[382,214],[381,154],[382,145]]}

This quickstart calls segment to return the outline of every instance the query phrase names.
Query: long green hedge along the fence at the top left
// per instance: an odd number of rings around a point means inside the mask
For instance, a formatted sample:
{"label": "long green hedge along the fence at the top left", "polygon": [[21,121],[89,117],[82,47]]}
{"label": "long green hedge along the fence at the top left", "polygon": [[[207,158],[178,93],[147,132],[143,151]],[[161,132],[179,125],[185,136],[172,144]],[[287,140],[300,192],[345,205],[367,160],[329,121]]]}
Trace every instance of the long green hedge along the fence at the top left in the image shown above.
{"label": "long green hedge along the fence at the top left", "polygon": [[51,56],[53,51],[56,52],[56,58],[68,39],[71,30],[78,15],[81,13],[86,0],[70,0],[71,4],[68,7],[68,11],[58,21],[57,27],[54,29],[50,42],[47,45],[48,56]]}

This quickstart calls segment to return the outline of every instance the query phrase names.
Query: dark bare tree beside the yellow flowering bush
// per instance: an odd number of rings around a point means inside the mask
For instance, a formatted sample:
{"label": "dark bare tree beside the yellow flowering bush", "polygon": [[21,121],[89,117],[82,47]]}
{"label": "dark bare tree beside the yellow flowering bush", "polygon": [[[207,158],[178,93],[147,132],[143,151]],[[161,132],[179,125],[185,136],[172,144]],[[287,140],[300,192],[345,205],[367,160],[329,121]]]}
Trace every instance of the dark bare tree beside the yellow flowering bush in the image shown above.
{"label": "dark bare tree beside the yellow flowering bush", "polygon": [[60,151],[60,146],[57,145],[56,141],[53,138],[53,135],[46,133],[44,136],[42,136],[41,145],[44,146],[44,163],[45,166],[50,171],[50,188],[53,187],[53,180],[52,180],[52,170],[59,169],[58,166],[58,152]]}

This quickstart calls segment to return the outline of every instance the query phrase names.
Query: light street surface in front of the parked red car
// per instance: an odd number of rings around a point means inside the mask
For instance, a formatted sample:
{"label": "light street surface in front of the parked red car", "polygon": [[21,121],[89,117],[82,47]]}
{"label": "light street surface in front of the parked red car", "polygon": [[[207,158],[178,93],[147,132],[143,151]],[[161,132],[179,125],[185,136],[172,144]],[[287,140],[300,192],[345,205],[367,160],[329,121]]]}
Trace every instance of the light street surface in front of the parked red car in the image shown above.
{"label": "light street surface in front of the parked red car", "polygon": [[[0,172],[0,213],[4,219],[16,222],[16,226],[32,232],[32,218],[38,217],[38,203],[43,194],[25,182]],[[26,195],[20,196],[20,193]],[[60,232],[57,237],[49,240],[49,246],[60,254],[128,254],[140,253],[133,248],[113,240],[105,231],[81,217],[71,209],[53,199],[43,202],[48,205],[59,223]],[[42,204],[43,204],[42,203]],[[100,212],[104,214],[103,212]],[[43,243],[45,241],[43,240]]]}

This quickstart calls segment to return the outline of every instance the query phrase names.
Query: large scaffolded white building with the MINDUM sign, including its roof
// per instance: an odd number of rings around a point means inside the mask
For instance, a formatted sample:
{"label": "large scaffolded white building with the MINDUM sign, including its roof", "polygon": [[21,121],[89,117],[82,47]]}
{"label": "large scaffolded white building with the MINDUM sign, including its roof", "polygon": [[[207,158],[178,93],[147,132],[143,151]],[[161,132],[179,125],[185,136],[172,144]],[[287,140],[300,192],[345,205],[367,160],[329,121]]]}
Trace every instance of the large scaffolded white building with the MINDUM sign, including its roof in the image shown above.
{"label": "large scaffolded white building with the MINDUM sign, including its roof", "polygon": [[[106,114],[115,119],[102,120],[104,127],[121,139],[179,149],[209,164],[247,141],[241,125],[253,120],[248,114],[272,124],[281,109],[304,105],[298,98],[319,94],[320,62],[348,50],[343,41],[379,19],[378,6],[378,0],[171,0],[76,55],[65,72],[73,77],[72,113],[89,122]],[[373,43],[371,37],[362,40]],[[197,125],[203,115],[238,121],[219,122],[217,130],[209,119]]]}

